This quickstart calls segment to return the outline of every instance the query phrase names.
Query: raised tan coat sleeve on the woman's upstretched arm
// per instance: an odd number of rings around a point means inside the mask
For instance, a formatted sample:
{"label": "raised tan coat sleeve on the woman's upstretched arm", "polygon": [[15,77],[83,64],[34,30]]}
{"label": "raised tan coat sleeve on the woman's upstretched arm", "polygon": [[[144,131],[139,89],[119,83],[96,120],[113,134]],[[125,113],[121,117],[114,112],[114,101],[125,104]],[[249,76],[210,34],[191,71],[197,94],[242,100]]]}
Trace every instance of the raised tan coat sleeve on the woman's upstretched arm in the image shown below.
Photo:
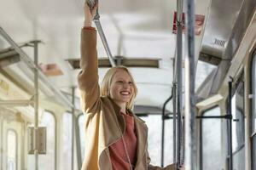
{"label": "raised tan coat sleeve on the woman's upstretched arm", "polygon": [[91,112],[100,99],[95,29],[82,29],[80,48],[80,68],[82,71],[79,72],[78,82],[81,108],[84,112]]}

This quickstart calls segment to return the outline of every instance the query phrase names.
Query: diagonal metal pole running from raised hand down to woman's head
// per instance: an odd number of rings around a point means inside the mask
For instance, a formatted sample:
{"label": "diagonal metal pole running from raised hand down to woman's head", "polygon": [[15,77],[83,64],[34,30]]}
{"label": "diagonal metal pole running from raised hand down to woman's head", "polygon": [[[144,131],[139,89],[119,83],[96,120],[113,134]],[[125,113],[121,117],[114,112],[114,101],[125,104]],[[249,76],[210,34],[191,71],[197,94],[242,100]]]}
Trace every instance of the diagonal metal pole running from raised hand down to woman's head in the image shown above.
{"label": "diagonal metal pole running from raised hand down to woman's head", "polygon": [[95,23],[97,31],[99,32],[99,35],[102,39],[102,43],[103,43],[105,51],[108,55],[108,59],[110,61],[110,64],[112,65],[112,67],[114,67],[114,66],[116,66],[116,64],[114,62],[113,55],[111,54],[110,48],[108,47],[108,42],[107,42],[107,39],[105,37],[104,31],[102,29],[102,25],[101,25],[101,22],[100,22],[100,14],[98,12],[98,9],[96,11],[96,16],[94,18],[94,23]]}

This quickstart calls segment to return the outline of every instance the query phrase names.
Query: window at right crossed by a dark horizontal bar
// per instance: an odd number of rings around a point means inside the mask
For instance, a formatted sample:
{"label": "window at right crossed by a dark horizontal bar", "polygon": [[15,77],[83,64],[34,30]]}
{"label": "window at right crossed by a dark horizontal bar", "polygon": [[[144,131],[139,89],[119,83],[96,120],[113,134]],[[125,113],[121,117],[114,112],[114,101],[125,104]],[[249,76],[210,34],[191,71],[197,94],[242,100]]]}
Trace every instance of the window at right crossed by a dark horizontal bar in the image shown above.
{"label": "window at right crossed by a dark horizontal bar", "polygon": [[[220,116],[219,107],[205,111],[203,116]],[[221,169],[221,120],[201,120],[202,169]]]}

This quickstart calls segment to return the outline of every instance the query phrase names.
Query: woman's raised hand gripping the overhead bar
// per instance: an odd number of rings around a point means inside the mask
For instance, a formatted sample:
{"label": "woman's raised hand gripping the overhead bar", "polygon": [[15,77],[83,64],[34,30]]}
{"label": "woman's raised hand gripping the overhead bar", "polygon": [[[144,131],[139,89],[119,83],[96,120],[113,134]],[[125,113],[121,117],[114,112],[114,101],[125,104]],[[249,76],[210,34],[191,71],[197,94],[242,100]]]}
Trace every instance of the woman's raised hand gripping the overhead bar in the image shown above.
{"label": "woman's raised hand gripping the overhead bar", "polygon": [[96,9],[98,8],[98,3],[93,8],[90,8],[84,1],[84,26],[91,26],[92,20],[95,17]]}

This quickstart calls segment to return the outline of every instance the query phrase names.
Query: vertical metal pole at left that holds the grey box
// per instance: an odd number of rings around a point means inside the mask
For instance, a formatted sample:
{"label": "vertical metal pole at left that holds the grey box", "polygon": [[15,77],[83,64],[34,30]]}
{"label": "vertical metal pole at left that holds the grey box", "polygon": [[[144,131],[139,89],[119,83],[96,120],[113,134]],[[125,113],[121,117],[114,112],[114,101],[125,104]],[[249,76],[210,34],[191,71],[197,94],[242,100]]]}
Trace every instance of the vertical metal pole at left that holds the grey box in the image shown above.
{"label": "vertical metal pole at left that holds the grey box", "polygon": [[[38,43],[34,43],[34,64],[38,67]],[[35,127],[34,127],[34,154],[35,169],[38,170],[38,110],[39,110],[39,94],[38,94],[38,69],[34,68],[34,111],[35,111]]]}

